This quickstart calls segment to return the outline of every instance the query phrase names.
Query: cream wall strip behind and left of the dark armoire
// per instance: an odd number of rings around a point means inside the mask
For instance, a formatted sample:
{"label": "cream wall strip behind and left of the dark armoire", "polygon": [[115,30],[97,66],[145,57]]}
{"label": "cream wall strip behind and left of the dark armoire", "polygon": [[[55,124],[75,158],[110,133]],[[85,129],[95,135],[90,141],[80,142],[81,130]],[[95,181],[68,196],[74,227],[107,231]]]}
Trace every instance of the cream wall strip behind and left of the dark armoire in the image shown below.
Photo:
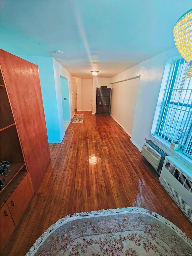
{"label": "cream wall strip behind and left of the dark armoire", "polygon": [[96,88],[102,85],[111,88],[111,78],[94,77],[93,78],[93,94],[92,94],[92,114],[96,113]]}

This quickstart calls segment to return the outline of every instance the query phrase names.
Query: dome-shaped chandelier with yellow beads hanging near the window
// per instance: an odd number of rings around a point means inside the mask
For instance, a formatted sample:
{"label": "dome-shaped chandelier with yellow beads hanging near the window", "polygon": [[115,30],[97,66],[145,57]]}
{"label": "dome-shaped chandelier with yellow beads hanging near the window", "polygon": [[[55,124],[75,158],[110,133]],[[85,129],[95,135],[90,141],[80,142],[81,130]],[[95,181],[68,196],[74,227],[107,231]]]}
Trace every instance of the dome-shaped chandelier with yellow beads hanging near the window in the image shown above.
{"label": "dome-shaped chandelier with yellow beads hanging near the window", "polygon": [[177,21],[173,34],[176,46],[181,56],[189,62],[186,78],[192,77],[192,9],[187,11]]}

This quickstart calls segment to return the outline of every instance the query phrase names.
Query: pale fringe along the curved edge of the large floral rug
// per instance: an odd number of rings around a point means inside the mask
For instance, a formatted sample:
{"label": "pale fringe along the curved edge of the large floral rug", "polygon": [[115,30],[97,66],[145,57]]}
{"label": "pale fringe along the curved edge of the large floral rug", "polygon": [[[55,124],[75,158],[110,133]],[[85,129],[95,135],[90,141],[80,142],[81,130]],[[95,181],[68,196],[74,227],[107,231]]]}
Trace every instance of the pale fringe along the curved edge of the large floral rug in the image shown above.
{"label": "pale fringe along the curved edge of the large floral rug", "polygon": [[151,215],[152,217],[158,219],[159,221],[162,221],[164,224],[172,228],[176,233],[178,233],[190,246],[192,246],[192,240],[186,236],[186,234],[179,229],[175,224],[173,224],[171,221],[168,221],[166,218],[162,217],[161,215],[157,214],[156,212],[150,212],[147,209],[139,208],[139,207],[126,207],[126,208],[117,208],[117,209],[102,209],[98,211],[91,211],[91,212],[80,212],[80,213],[74,213],[72,215],[67,215],[64,218],[59,219],[55,222],[55,224],[51,225],[45,232],[36,240],[36,242],[32,245],[30,250],[27,252],[26,256],[33,256],[39,246],[44,242],[44,240],[49,236],[55,229],[57,229],[59,226],[63,225],[64,223],[78,218],[83,217],[91,217],[91,216],[99,216],[99,215],[110,215],[114,213],[124,213],[124,212],[141,212],[147,215]]}

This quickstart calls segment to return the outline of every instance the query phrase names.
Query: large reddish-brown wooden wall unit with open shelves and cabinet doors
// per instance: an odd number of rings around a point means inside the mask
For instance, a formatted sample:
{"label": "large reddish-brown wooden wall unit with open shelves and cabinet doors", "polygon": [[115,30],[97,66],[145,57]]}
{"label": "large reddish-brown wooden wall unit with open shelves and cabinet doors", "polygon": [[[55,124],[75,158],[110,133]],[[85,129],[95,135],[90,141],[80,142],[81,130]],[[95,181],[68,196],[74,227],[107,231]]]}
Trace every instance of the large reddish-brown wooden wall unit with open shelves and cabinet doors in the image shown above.
{"label": "large reddish-brown wooden wall unit with open shelves and cabinet doors", "polygon": [[0,49],[1,253],[50,161],[38,66]]}

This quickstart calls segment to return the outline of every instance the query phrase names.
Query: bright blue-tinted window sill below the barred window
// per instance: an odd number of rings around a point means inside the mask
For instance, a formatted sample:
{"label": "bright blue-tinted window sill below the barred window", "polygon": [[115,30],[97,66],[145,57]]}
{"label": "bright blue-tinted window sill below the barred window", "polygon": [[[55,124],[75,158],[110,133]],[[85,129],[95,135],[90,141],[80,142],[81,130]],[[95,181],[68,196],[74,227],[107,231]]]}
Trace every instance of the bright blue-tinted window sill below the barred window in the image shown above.
{"label": "bright blue-tinted window sill below the barred window", "polygon": [[[157,142],[161,146],[163,146],[162,150],[165,151],[167,153],[167,155],[173,155],[179,161],[184,163],[187,167],[192,169],[191,168],[191,166],[192,166],[192,159],[190,157],[188,157],[187,155],[183,154],[181,151],[173,151],[172,149],[170,149],[170,144],[169,143],[165,142],[164,140],[161,140],[155,134],[150,134],[150,137],[152,137],[152,139],[155,139],[155,142]],[[158,146],[158,147],[161,148],[161,146]]]}

